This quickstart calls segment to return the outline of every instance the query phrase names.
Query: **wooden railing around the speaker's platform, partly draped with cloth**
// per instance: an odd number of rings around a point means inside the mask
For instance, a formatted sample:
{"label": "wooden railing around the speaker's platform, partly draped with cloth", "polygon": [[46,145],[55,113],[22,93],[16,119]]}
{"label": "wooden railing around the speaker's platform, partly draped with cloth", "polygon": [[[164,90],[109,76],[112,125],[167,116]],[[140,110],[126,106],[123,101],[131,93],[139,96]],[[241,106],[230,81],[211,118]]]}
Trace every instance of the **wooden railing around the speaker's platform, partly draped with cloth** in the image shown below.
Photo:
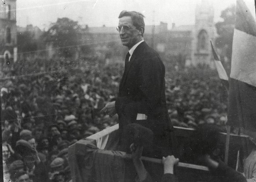
{"label": "wooden railing around the speaker's platform, partly draped with cloth", "polygon": [[[95,134],[91,135],[90,137],[87,137],[86,139],[79,140],[75,144],[73,144],[72,146],[69,147],[69,156],[70,156],[69,158],[70,158],[70,160],[72,160],[71,163],[73,163],[73,164],[69,164],[69,165],[71,165],[71,172],[73,170],[72,175],[75,178],[73,181],[75,181],[75,182],[84,181],[84,180],[80,180],[80,181],[76,180],[76,179],[78,179],[77,177],[79,175],[82,175],[82,174],[77,174],[77,172],[79,173],[79,168],[82,168],[82,167],[77,167],[77,169],[74,170],[72,165],[76,165],[75,164],[76,161],[79,162],[80,160],[82,160],[82,158],[84,156],[84,150],[86,150],[87,145],[93,143],[93,144],[96,144],[96,146],[99,149],[114,150],[114,148],[117,145],[117,140],[119,137],[118,128],[119,128],[118,124],[114,125],[110,128],[100,131],[99,133],[95,133]],[[190,128],[183,128],[183,127],[175,126],[174,129],[175,129],[174,131],[176,133],[176,136],[178,138],[183,138],[183,139],[186,139],[194,132],[194,129],[190,129]],[[225,141],[226,136],[227,136],[227,133],[221,133],[221,140]],[[241,143],[243,143],[247,139],[249,139],[249,136],[247,136],[247,135],[230,134],[230,143],[241,145]],[[73,158],[73,159],[71,159],[71,158]],[[78,158],[80,158],[80,159],[78,159]],[[131,155],[124,154],[124,158],[131,159]],[[70,160],[69,160],[69,162],[70,162]],[[142,160],[145,162],[154,163],[158,166],[162,166],[161,159],[142,157]],[[187,168],[187,169],[191,169],[191,170],[200,170],[200,171],[205,171],[205,172],[208,171],[208,167],[201,166],[201,165],[187,164],[187,163],[182,163],[182,162],[179,162],[178,168],[179,167]],[[80,179],[82,179],[82,177],[80,177]]]}

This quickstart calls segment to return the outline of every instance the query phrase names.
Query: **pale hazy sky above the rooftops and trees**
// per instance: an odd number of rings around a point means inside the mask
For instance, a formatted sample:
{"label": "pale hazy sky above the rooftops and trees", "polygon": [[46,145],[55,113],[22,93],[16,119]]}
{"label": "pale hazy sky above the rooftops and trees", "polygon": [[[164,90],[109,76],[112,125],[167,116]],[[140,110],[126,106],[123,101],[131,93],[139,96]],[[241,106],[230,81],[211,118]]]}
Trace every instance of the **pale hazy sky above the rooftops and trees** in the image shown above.
{"label": "pale hazy sky above the rooftops and trees", "polygon": [[[235,4],[235,0],[207,0],[214,7],[214,21],[221,21],[221,11]],[[255,17],[254,0],[244,0]],[[67,17],[89,27],[117,26],[122,10],[139,11],[145,15],[146,25],[160,21],[179,25],[194,25],[195,8],[201,0],[17,0],[17,25],[32,24],[48,28],[57,18]]]}

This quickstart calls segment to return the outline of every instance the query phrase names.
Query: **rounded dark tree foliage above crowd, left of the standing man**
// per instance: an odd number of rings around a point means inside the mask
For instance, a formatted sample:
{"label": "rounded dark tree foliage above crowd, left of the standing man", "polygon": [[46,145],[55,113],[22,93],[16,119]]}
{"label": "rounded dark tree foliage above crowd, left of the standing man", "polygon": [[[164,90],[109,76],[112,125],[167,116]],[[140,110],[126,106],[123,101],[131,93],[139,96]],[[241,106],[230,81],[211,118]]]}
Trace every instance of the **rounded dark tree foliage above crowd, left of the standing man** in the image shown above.
{"label": "rounded dark tree foliage above crowd, left of the standing man", "polygon": [[72,57],[79,47],[81,28],[77,21],[69,18],[58,18],[43,35],[44,42],[52,45],[56,53],[64,57]]}

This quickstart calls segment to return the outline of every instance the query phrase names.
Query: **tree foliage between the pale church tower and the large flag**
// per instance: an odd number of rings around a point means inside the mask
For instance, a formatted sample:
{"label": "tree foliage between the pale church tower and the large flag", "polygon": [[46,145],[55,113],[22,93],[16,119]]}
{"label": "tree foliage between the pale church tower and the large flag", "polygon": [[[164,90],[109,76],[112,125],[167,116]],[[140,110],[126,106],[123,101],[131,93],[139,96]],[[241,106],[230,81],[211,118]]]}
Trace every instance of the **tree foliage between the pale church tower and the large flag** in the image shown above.
{"label": "tree foliage between the pale church tower and the large flag", "polygon": [[216,47],[222,49],[221,56],[227,56],[231,60],[232,55],[232,41],[234,35],[234,23],[235,23],[235,5],[232,4],[221,12],[220,18],[223,21],[216,23],[217,34]]}

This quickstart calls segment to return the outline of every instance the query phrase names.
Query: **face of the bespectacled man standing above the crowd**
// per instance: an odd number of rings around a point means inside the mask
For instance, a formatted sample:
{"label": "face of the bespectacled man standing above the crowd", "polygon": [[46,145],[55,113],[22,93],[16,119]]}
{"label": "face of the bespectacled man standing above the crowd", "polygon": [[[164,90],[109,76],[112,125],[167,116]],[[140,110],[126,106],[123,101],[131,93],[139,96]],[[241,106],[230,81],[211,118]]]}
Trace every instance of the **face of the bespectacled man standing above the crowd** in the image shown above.
{"label": "face of the bespectacled man standing above the crowd", "polygon": [[131,49],[133,45],[138,43],[142,35],[140,31],[133,25],[131,17],[122,17],[119,19],[118,26],[128,25],[130,28],[128,30],[124,30],[121,28],[119,32],[121,42],[123,45],[127,46],[128,49]]}

